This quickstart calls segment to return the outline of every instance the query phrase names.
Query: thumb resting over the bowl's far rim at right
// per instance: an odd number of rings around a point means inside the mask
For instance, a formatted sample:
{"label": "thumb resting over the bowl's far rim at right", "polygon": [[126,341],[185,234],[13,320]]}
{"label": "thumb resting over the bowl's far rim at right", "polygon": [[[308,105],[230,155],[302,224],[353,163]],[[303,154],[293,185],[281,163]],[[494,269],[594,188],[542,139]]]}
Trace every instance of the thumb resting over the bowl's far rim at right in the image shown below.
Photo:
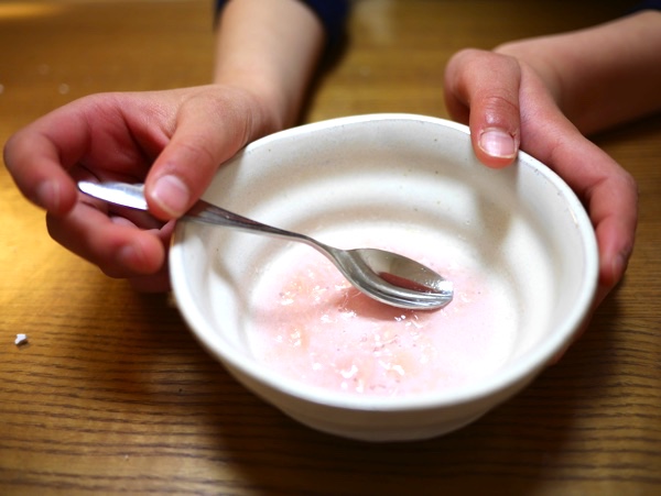
{"label": "thumb resting over the bowl's far rim at right", "polygon": [[518,63],[477,49],[457,53],[445,71],[445,101],[453,118],[467,122],[478,159],[491,167],[513,162],[520,143]]}

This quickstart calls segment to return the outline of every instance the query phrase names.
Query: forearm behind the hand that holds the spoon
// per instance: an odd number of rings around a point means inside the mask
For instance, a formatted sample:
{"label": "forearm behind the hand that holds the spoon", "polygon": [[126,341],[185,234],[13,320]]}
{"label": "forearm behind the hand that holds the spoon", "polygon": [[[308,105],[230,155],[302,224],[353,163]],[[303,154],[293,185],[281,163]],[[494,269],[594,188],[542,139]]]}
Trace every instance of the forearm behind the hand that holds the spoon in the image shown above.
{"label": "forearm behind the hand that holds the spoon", "polygon": [[291,125],[324,46],[316,15],[299,0],[231,0],[217,30],[214,81],[256,95],[266,132]]}

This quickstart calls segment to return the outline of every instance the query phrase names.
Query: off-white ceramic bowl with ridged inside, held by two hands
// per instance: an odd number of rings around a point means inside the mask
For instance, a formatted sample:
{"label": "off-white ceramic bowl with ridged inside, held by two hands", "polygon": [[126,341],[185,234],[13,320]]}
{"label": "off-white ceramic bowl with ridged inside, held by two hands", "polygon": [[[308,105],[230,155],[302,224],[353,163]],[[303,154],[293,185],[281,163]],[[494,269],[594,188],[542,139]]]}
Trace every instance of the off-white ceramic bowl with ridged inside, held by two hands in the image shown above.
{"label": "off-white ceramic bowl with ridged inside, held by two hands", "polygon": [[[596,289],[595,235],[573,191],[524,153],[506,169],[487,168],[472,152],[468,129],[441,119],[359,115],[267,136],[224,165],[205,198],[329,244],[343,233],[378,240],[386,232],[399,240],[413,236],[420,245],[427,236],[438,257],[446,246],[497,280],[490,288],[505,313],[480,317],[484,332],[494,335],[483,333],[474,346],[499,350],[492,370],[419,394],[348,394],[289,377],[254,354],[253,343],[262,339],[252,322],[258,286],[292,250],[312,249],[178,223],[172,286],[201,343],[247,388],[292,418],[346,438],[424,439],[476,420],[529,384],[571,342]],[[456,290],[458,306],[462,288]]]}

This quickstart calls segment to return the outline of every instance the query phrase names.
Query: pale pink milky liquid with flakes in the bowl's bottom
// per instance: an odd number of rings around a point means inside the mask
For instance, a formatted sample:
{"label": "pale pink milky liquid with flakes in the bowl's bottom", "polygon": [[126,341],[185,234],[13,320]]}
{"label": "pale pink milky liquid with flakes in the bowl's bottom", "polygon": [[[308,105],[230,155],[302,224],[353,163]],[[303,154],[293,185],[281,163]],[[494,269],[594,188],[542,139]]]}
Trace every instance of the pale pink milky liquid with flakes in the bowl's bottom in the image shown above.
{"label": "pale pink milky liquid with flakes in the bowl's bottom", "polygon": [[460,386],[507,360],[517,322],[501,278],[486,277],[488,271],[446,245],[345,244],[397,251],[430,266],[454,283],[453,301],[433,311],[380,304],[314,250],[296,246],[254,294],[251,348],[274,372],[347,394],[404,396]]}

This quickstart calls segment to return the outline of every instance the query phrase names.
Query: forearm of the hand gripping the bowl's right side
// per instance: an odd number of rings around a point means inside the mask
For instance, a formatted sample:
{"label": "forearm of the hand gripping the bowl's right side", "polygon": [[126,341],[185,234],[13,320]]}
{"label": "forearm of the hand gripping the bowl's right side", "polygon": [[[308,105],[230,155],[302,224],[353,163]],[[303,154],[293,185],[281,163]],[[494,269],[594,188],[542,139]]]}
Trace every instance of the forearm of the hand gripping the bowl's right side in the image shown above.
{"label": "forearm of the hand gripping the bowl's right side", "polygon": [[585,134],[661,110],[661,12],[496,48],[530,65]]}

